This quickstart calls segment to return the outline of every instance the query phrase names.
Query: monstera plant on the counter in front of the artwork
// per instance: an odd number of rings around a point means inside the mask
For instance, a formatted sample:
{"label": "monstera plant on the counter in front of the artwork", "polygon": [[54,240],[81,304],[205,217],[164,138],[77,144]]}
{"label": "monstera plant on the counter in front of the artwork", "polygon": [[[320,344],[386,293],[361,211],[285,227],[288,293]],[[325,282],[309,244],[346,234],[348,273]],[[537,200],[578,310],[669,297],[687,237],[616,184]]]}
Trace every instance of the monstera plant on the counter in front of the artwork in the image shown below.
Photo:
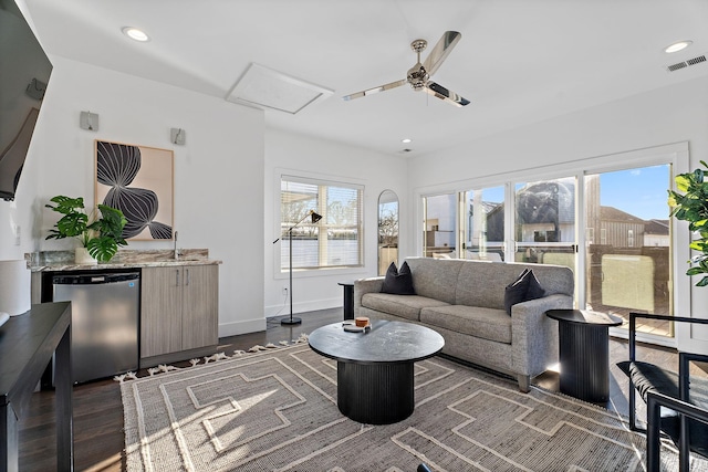
{"label": "monstera plant on the counter in front of the artwork", "polygon": [[[108,262],[118,252],[118,247],[127,245],[123,239],[123,228],[127,220],[121,210],[98,204],[87,213],[84,199],[81,197],[60,195],[50,201],[54,204],[45,207],[61,213],[62,217],[54,224],[54,229],[50,230],[46,239],[76,238],[81,242],[81,248],[76,248],[76,262]],[[87,252],[91,259],[83,259],[82,252]]]}

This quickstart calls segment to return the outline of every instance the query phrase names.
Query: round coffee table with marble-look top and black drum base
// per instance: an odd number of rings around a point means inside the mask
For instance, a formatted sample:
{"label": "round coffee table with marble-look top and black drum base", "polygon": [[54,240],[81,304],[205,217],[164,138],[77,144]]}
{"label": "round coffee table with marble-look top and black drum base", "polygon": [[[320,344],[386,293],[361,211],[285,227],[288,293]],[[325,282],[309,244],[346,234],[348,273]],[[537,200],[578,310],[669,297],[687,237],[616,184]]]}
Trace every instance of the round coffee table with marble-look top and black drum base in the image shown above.
{"label": "round coffee table with marble-look top and black drum base", "polygon": [[310,334],[310,347],[337,361],[337,407],[365,424],[391,424],[415,408],[413,371],[418,360],[435,356],[445,340],[413,323],[376,321],[364,333],[348,333],[342,323]]}

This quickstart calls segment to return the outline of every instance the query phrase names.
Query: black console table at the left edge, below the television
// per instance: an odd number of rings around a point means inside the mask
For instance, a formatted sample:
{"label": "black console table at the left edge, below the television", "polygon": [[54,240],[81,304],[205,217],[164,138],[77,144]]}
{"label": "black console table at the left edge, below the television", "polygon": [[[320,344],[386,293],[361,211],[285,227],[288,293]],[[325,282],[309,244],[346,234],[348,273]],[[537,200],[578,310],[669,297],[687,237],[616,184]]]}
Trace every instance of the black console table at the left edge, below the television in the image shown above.
{"label": "black console table at the left edge, below the television", "polygon": [[0,472],[19,470],[18,420],[55,356],[56,470],[74,469],[71,304],[42,303],[0,327]]}

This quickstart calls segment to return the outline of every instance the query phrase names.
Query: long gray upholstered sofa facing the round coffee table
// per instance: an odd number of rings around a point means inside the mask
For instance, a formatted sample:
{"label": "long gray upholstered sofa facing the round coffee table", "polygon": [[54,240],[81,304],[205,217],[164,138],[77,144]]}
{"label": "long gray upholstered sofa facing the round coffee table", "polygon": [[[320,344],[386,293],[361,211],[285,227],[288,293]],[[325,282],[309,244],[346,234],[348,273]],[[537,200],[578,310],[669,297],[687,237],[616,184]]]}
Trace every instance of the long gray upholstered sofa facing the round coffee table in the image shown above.
{"label": "long gray upholstered sofa facing the round coffee table", "polygon": [[[546,310],[572,308],[574,280],[560,265],[406,259],[416,295],[381,293],[384,277],[354,282],[354,314],[407,321],[445,338],[442,353],[516,376],[521,391],[530,379],[558,363],[558,322]],[[532,269],[545,295],[504,311],[504,287]]]}

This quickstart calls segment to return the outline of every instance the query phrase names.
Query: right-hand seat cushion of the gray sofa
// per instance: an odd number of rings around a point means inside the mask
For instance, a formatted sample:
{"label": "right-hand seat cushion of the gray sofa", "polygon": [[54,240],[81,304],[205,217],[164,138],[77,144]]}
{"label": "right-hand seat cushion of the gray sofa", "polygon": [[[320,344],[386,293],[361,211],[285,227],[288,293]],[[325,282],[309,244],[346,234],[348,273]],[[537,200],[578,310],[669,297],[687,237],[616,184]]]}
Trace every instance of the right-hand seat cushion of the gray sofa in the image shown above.
{"label": "right-hand seat cushion of the gray sofa", "polygon": [[449,305],[420,310],[420,322],[457,333],[511,344],[511,317],[503,310]]}

